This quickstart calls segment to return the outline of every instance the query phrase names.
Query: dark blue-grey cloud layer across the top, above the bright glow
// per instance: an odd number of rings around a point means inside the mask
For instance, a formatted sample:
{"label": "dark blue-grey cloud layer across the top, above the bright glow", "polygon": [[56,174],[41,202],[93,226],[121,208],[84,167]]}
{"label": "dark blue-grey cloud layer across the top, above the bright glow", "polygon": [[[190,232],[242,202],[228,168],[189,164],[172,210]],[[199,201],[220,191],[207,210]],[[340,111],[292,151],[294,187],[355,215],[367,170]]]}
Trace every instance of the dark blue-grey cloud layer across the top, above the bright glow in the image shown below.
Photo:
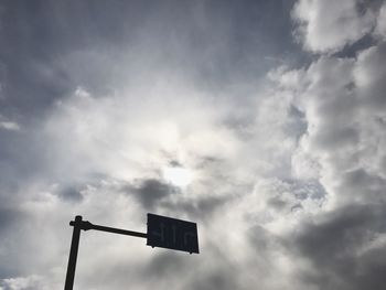
{"label": "dark blue-grey cloud layer across the top, above the bright glow", "polygon": [[[79,84],[95,94],[108,92],[115,79],[127,78],[127,72],[112,64],[125,63],[126,54],[132,56],[130,65],[139,67],[169,60],[168,65],[182,67],[183,74],[217,78],[212,85],[219,88],[224,78],[250,78],[251,72],[255,76],[269,68],[272,64],[260,53],[281,57],[293,52],[291,35],[283,30],[290,21],[289,1],[221,3],[6,1],[0,30],[2,112],[36,118]],[[278,12],[280,17],[269,21]]]}

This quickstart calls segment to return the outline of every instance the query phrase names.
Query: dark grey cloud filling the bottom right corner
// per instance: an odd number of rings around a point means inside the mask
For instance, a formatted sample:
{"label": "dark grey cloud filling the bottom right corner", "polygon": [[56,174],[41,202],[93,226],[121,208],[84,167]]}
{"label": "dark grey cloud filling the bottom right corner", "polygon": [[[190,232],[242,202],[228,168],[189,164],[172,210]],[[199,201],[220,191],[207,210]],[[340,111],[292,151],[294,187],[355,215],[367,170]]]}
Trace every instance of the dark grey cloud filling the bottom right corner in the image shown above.
{"label": "dark grey cloud filling the bottom right corner", "polygon": [[366,246],[386,234],[385,217],[383,204],[350,205],[305,224],[288,245],[312,264],[301,279],[320,289],[383,289],[384,248]]}

